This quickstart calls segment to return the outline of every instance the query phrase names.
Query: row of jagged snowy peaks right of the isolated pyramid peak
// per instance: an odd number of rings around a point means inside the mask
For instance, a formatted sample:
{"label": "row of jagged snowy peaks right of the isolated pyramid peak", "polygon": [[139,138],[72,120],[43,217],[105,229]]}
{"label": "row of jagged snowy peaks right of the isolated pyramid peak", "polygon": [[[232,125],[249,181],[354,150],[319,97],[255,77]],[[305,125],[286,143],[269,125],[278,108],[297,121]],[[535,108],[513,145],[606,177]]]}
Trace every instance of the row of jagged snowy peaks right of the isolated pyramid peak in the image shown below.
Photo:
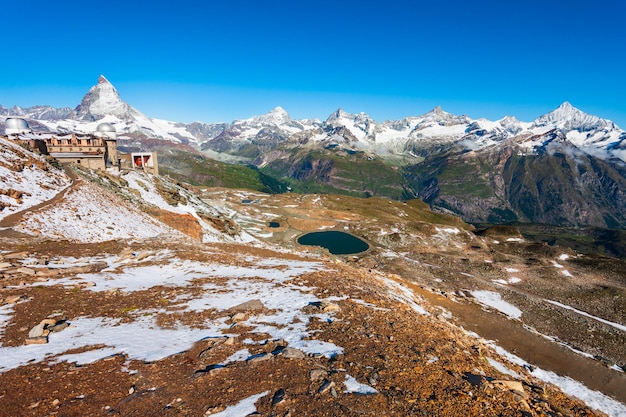
{"label": "row of jagged snowy peaks right of the isolated pyramid peak", "polygon": [[[306,138],[319,146],[342,146],[382,157],[409,156],[433,145],[460,145],[479,150],[505,143],[518,147],[523,153],[535,153],[552,142],[557,134],[563,136],[564,143],[584,153],[626,162],[626,132],[613,122],[588,115],[567,102],[533,122],[522,122],[512,116],[497,121],[471,119],[447,113],[441,107],[422,116],[382,123],[363,112],[352,114],[338,109],[324,122],[311,122],[293,120],[282,108],[276,108],[264,116],[235,121],[224,132],[229,132],[231,138],[236,137],[231,140],[238,146],[258,143],[268,137],[298,146]],[[205,137],[203,149],[212,148],[213,141],[221,138],[220,134]],[[221,142],[216,143],[223,146]],[[219,149],[236,153],[237,147]]]}

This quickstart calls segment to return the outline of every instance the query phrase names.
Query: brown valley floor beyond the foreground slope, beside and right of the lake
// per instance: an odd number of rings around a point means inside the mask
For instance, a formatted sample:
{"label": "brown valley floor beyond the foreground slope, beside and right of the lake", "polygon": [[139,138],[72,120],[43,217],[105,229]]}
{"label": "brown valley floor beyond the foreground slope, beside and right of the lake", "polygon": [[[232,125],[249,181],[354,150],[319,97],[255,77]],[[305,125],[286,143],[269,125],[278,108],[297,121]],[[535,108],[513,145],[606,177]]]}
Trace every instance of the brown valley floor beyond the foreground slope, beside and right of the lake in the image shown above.
{"label": "brown valley floor beyond the foreground slope, beside and right of the lake", "polygon": [[[433,305],[452,312],[457,324],[498,340],[537,366],[577,375],[591,385],[599,379],[603,382],[596,388],[602,385],[622,398],[624,261],[526,241],[512,227],[476,234],[471,226],[430,213],[417,201],[253,194],[247,199],[254,198],[254,204],[238,204],[244,197],[235,193],[228,201],[249,216],[239,220],[250,233],[293,245],[302,232],[350,231],[375,246],[366,254],[347,256],[348,262],[397,274]],[[270,220],[281,227],[268,228]],[[433,230],[433,224],[439,226]],[[486,305],[475,295],[481,293],[498,294],[498,300],[510,301],[523,313],[507,318],[497,308],[482,311]]]}

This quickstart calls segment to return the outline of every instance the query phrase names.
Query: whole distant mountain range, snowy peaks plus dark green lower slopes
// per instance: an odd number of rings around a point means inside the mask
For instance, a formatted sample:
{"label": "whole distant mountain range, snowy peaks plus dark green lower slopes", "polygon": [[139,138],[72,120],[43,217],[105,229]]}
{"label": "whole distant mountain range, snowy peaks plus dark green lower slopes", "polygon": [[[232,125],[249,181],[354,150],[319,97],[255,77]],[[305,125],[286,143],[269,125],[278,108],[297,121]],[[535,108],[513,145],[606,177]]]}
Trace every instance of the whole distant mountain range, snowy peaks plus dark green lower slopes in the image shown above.
{"label": "whole distant mountain range, snowy peaks plus dark green lower slopes", "polygon": [[[285,190],[421,198],[472,223],[626,227],[626,132],[568,102],[532,122],[440,107],[384,122],[342,109],[325,121],[298,120],[276,107],[231,123],[185,124],[144,115],[100,76],[74,109],[0,106],[0,124],[16,116],[53,132],[109,122],[122,145],[186,145],[207,163],[247,165]],[[176,160],[169,165],[183,175]]]}

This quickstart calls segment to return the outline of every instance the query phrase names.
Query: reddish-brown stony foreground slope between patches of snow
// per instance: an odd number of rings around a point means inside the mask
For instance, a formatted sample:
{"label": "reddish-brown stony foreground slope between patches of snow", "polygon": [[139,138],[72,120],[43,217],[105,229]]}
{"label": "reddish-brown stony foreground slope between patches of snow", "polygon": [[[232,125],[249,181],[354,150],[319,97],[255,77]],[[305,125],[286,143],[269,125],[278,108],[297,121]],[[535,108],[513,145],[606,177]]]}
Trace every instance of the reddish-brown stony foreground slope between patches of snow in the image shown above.
{"label": "reddish-brown stony foreground slope between patches of snow", "polygon": [[[198,276],[186,285],[147,285],[135,291],[114,286],[92,291],[104,284],[88,281],[106,268],[108,279],[114,280],[113,271],[130,274],[139,266],[163,264],[159,251],[166,251],[167,259],[215,268],[238,265],[254,270],[263,268],[256,259],[274,259],[272,273],[286,268],[282,262],[310,259],[249,246],[181,242],[79,245],[3,239],[0,247],[8,321],[3,355],[17,358],[16,350],[32,349],[29,333],[45,319],[51,321],[42,327],[54,328],[49,335],[34,337],[45,338],[42,343],[47,341],[44,346],[50,352],[86,317],[119,320],[120,339],[128,337],[123,324],[146,315],[166,329],[199,330],[207,322],[224,323],[220,332],[207,330],[206,337],[159,360],[133,358],[132,349],[96,360],[80,356],[103,345],[114,346],[116,326],[107,333],[110,340],[100,345],[77,345],[63,352],[75,354],[75,361],[54,353],[18,367],[5,360],[1,415],[601,415],[527,369],[506,362],[480,338],[438,318],[438,308],[399,290],[397,277],[343,261],[318,259],[314,271],[275,283],[306,293],[310,301],[296,306],[294,320],[307,319],[304,339],[340,348],[327,354],[323,349],[307,352],[289,332],[280,338],[272,334],[274,330],[253,324],[252,317],[271,321],[275,313],[268,308],[271,293],[224,310],[182,314],[193,300],[209,296],[209,284],[212,292],[222,291],[220,284],[227,287],[220,274]],[[110,256],[116,263],[125,262],[120,264],[124,267],[111,269],[111,261],[98,261]],[[85,263],[86,259],[90,261]],[[11,313],[6,306],[11,306]],[[69,327],[56,328],[64,323]],[[238,352],[244,353],[237,356]]]}

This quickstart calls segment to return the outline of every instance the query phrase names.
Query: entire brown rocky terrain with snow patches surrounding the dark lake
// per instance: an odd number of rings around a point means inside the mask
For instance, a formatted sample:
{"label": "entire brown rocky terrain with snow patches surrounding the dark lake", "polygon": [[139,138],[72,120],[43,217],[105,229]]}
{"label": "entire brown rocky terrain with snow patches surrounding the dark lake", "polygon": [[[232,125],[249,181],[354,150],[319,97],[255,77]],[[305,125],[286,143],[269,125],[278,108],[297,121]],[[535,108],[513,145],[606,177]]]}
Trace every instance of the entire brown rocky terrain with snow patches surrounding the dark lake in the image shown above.
{"label": "entire brown rocky terrain with snow patches surrounding the dark lake", "polygon": [[[419,201],[31,169],[65,188],[1,224],[2,415],[626,416],[620,261]],[[370,250],[294,240],[329,227]]]}

